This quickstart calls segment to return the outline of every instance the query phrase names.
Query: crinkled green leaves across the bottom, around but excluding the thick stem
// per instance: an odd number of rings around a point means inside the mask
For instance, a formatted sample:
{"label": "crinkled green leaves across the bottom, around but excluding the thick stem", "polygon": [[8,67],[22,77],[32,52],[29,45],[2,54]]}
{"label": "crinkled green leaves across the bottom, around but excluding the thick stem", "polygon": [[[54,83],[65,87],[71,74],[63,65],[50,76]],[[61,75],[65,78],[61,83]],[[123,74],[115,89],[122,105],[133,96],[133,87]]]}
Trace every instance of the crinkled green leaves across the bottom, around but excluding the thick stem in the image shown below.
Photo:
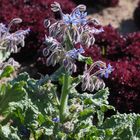
{"label": "crinkled green leaves across the bottom, around but excluding the thick stem", "polygon": [[[130,140],[140,138],[140,115],[117,114],[105,118],[108,88],[79,93],[79,78],[71,77],[67,115],[59,117],[59,90],[48,76],[34,80],[27,73],[0,86],[0,139]],[[61,79],[61,84],[63,78]],[[24,131],[21,127],[24,126]],[[24,133],[23,133],[23,132]],[[28,135],[26,134],[27,132]]]}

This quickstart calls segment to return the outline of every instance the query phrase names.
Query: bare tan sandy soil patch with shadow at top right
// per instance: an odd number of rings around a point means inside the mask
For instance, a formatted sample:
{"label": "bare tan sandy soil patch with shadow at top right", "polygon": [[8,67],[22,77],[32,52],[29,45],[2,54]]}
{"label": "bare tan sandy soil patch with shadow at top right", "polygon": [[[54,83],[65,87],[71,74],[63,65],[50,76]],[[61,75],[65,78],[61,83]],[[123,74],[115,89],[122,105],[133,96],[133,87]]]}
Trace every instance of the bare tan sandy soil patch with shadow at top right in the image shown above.
{"label": "bare tan sandy soil patch with shadow at top right", "polygon": [[111,24],[113,27],[125,34],[138,31],[134,20],[133,12],[139,0],[120,0],[118,6],[104,8],[91,16],[97,18],[101,25]]}

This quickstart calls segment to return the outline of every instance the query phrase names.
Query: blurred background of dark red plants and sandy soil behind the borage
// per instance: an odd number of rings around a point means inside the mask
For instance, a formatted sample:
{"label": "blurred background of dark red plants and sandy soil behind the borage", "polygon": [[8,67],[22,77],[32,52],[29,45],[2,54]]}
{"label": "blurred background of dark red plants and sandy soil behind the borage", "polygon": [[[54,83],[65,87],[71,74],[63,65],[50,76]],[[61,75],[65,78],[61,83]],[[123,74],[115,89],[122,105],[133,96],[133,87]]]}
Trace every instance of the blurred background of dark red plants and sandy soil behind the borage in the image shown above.
{"label": "blurred background of dark red plants and sandy soil behind the borage", "polygon": [[[114,71],[105,79],[110,89],[109,102],[121,113],[140,113],[140,1],[139,0],[55,0],[64,13],[70,13],[78,4],[87,6],[88,17],[97,18],[104,32],[95,36],[95,45],[86,50],[93,60],[111,63]],[[30,28],[26,46],[12,57],[21,63],[21,71],[32,77],[46,74],[42,55],[47,30],[43,22],[47,18],[59,18],[50,10],[53,0],[0,0],[0,22],[8,24],[20,17],[23,23],[16,29]],[[79,64],[79,67],[82,67]]]}

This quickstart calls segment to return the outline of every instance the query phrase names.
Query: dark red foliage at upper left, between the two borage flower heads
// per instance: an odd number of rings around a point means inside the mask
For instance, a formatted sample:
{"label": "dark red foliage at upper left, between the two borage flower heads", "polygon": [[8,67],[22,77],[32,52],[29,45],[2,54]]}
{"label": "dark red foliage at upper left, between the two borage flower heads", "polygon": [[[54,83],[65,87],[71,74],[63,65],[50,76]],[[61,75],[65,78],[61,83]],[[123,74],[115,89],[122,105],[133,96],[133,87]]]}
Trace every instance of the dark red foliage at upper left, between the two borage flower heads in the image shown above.
{"label": "dark red foliage at upper left, between the two borage flower heads", "polygon": [[[60,2],[65,12],[70,12],[75,4],[69,0],[56,0]],[[44,34],[47,33],[42,26],[43,21],[47,17],[54,17],[50,10],[52,0],[1,0],[0,4],[0,22],[11,21],[11,19],[19,17],[23,20],[21,26],[16,26],[12,30],[20,28],[30,28],[31,32],[26,38],[26,47],[22,48],[20,53],[14,55],[19,61],[25,61],[25,58],[33,58],[37,55],[37,50],[44,40]]]}

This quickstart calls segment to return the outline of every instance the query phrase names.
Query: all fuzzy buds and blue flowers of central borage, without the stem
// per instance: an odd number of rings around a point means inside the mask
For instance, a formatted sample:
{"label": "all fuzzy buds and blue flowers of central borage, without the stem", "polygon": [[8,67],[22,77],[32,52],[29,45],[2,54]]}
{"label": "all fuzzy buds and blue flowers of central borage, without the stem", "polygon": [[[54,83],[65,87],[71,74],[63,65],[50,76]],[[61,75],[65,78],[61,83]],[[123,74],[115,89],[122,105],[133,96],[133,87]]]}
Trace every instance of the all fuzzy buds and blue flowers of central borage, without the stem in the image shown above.
{"label": "all fuzzy buds and blue flowers of central borage, without the stem", "polygon": [[[83,56],[86,48],[94,44],[94,35],[102,33],[102,27],[96,19],[88,19],[86,6],[77,6],[71,14],[64,14],[59,3],[54,2],[52,11],[60,12],[61,20],[51,24],[49,19],[44,21],[44,25],[49,30],[49,35],[45,37],[46,48],[43,55],[47,57],[47,66],[55,66],[57,63],[62,65],[70,74],[77,71],[76,61],[86,62],[87,57]],[[90,24],[90,25],[89,25]],[[60,43],[61,42],[61,43]],[[76,44],[79,47],[75,48]],[[91,71],[98,66],[94,74]],[[101,77],[108,78],[113,71],[111,65],[106,66],[102,61],[94,62],[89,69],[86,69],[82,78],[82,89],[93,92],[105,87]]]}

